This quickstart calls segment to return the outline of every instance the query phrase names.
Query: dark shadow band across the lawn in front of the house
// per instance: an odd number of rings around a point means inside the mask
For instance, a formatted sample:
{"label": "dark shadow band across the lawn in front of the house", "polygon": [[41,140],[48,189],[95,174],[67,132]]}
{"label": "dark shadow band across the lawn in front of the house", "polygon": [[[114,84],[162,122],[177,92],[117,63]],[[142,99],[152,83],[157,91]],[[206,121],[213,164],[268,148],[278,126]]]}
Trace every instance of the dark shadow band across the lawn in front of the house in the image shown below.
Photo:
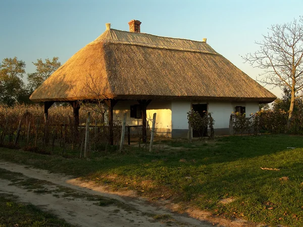
{"label": "dark shadow band across the lawn in front of the house", "polygon": [[[168,143],[173,144],[174,141],[166,142],[166,144]],[[176,141],[176,143],[180,142]],[[49,157],[0,148],[2,149],[0,158],[33,165],[52,172],[83,177],[98,170],[108,172],[111,169],[121,167],[130,170],[134,166],[146,166],[147,168],[163,166],[171,168],[211,165],[214,163],[236,161],[238,159],[245,160],[247,158],[278,153],[287,149],[287,147],[303,147],[303,137],[287,135],[232,136],[217,138],[215,142],[211,142],[207,146],[205,144],[207,143],[187,143],[185,146],[189,146],[190,148],[177,150],[164,149],[158,152],[148,152],[136,147],[128,147],[128,154],[114,153],[99,156],[100,154],[96,153],[92,155],[91,159],[63,158],[57,155]],[[73,152],[75,153],[75,151]]]}

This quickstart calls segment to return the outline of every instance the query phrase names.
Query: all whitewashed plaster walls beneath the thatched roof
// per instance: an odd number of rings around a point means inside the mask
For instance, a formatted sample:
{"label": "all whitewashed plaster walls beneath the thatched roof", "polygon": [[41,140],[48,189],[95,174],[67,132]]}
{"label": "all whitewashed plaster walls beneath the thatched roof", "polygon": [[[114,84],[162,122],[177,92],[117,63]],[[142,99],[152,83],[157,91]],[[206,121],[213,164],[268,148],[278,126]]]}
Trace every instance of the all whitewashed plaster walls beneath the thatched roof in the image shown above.
{"label": "all whitewashed plaster walls beneath the thatched roof", "polygon": [[[193,101],[193,104],[203,104],[207,102]],[[118,101],[114,106],[114,119],[123,120],[124,113],[127,114],[127,125],[142,125],[142,119],[130,118],[130,105],[138,104],[137,101],[125,100]],[[246,107],[246,115],[255,113],[259,110],[258,102],[219,102],[210,101],[208,103],[208,111],[212,112],[215,120],[215,129],[229,127],[229,117],[232,111],[235,111],[237,105]],[[107,106],[106,106],[107,108]],[[188,129],[187,112],[191,108],[190,101],[156,101],[153,100],[147,106],[146,114],[149,126],[154,112],[157,113],[156,127],[161,132],[171,132],[173,129]],[[160,131],[159,131],[160,132]]]}

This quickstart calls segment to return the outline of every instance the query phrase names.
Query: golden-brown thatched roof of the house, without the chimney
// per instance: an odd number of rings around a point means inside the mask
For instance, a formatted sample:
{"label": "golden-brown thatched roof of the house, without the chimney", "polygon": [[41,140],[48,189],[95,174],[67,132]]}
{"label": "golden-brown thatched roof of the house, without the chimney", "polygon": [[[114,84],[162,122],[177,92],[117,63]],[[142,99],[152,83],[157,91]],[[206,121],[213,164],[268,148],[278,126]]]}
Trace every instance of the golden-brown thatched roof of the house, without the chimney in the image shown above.
{"label": "golden-brown thatched roof of the house, without the chimney", "polygon": [[276,96],[201,41],[107,30],[30,99],[178,99],[271,102]]}

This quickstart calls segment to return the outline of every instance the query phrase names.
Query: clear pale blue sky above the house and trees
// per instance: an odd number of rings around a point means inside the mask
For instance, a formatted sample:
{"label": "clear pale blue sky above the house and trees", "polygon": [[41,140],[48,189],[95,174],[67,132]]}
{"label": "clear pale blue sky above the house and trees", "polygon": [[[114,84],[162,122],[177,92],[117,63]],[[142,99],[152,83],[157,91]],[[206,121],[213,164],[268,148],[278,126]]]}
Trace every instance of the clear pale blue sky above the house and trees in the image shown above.
{"label": "clear pale blue sky above the house and trees", "polygon": [[26,73],[35,71],[32,62],[37,59],[59,56],[64,64],[102,34],[105,23],[128,31],[128,22],[135,19],[144,33],[207,38],[217,52],[256,79],[261,71],[243,64],[241,55],[257,50],[254,41],[262,40],[272,24],[299,19],[302,10],[302,0],[0,0],[0,61],[17,56],[25,61]]}

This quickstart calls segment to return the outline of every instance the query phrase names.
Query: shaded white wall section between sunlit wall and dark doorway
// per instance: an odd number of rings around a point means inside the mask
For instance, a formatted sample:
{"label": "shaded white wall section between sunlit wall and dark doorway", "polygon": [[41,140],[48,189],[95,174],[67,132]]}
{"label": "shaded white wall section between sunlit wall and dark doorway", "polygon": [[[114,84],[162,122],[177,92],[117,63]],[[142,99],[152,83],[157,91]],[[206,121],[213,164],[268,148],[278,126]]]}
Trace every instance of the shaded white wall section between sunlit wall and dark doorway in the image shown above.
{"label": "shaded white wall section between sunlit wall and dark doorway", "polygon": [[187,112],[190,101],[172,101],[172,129],[188,129]]}

